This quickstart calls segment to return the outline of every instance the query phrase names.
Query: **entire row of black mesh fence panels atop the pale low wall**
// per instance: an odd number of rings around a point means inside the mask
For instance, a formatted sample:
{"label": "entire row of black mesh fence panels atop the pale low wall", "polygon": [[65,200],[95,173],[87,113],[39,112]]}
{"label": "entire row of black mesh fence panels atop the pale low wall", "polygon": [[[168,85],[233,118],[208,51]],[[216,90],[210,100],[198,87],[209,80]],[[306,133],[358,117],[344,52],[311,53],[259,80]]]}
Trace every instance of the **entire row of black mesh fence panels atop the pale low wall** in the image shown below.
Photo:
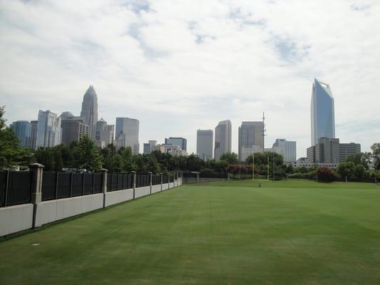
{"label": "entire row of black mesh fence panels atop the pale low wall", "polygon": [[[135,187],[148,187],[174,182],[181,173],[170,175],[151,175],[146,173],[108,173],[107,191],[118,191]],[[0,207],[26,204],[31,202],[31,171],[0,171]],[[152,181],[150,181],[152,180]],[[43,171],[41,181],[42,201],[78,197],[101,193],[103,173],[48,172]]]}

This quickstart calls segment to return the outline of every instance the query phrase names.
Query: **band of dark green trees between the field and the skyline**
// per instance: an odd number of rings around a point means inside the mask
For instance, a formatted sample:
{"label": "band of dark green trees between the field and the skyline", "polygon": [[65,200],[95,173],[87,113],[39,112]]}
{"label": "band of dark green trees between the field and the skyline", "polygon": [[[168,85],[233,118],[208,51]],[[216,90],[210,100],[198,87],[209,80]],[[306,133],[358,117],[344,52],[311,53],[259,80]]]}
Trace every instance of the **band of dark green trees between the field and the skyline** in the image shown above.
{"label": "band of dark green trees between the field and the skyline", "polygon": [[[230,173],[233,177],[257,177],[271,179],[307,178],[326,174],[335,180],[342,177],[366,180],[373,177],[380,179],[380,143],[371,146],[372,152],[350,155],[346,162],[339,164],[335,170],[320,170],[318,167],[293,167],[284,163],[284,158],[274,152],[261,152],[250,155],[244,162],[238,160],[237,154],[227,152],[220,160],[201,160],[197,155],[177,157],[159,151],[150,154],[133,155],[130,147],[116,150],[114,145],[97,147],[93,140],[84,136],[81,140],[56,147],[39,147],[30,150],[19,146],[19,140],[5,125],[4,107],[0,108],[0,169],[11,169],[15,165],[26,168],[31,162],[45,166],[46,171],[61,171],[63,168],[86,169],[96,172],[101,168],[109,172],[170,172],[173,170],[199,171],[204,175]],[[255,160],[255,161],[254,161]],[[321,167],[319,167],[321,168]]]}

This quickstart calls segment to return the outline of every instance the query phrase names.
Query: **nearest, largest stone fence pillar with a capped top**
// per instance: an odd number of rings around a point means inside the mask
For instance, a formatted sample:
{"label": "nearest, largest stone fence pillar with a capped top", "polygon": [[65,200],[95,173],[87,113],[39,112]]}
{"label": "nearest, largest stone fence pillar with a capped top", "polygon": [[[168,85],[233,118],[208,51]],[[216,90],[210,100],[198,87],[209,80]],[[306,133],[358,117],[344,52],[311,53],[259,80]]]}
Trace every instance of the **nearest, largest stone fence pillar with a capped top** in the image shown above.
{"label": "nearest, largest stone fence pillar with a capped top", "polygon": [[33,204],[32,227],[36,227],[37,204],[42,202],[43,167],[39,163],[29,165],[29,171],[31,171],[31,203]]}

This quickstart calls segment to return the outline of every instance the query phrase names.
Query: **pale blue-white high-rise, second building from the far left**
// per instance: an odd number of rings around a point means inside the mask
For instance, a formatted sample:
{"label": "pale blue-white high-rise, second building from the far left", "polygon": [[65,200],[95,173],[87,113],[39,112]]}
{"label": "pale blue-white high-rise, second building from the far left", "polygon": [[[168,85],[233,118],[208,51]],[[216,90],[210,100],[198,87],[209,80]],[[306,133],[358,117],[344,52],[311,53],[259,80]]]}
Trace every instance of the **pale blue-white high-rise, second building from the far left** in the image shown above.
{"label": "pale blue-white high-rise, second building from the far left", "polygon": [[54,147],[61,144],[61,118],[50,110],[39,110],[36,147]]}

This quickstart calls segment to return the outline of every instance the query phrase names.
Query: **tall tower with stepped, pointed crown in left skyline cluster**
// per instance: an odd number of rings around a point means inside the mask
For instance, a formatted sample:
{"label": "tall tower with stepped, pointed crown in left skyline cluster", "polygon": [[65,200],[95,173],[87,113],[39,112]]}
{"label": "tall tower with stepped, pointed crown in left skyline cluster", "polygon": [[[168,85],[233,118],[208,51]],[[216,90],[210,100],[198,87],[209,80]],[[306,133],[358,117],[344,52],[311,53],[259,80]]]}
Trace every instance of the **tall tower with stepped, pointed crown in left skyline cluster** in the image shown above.
{"label": "tall tower with stepped, pointed crown in left skyline cluster", "polygon": [[98,96],[93,86],[88,87],[83,96],[81,117],[90,128],[90,137],[95,140],[95,124],[98,122]]}

